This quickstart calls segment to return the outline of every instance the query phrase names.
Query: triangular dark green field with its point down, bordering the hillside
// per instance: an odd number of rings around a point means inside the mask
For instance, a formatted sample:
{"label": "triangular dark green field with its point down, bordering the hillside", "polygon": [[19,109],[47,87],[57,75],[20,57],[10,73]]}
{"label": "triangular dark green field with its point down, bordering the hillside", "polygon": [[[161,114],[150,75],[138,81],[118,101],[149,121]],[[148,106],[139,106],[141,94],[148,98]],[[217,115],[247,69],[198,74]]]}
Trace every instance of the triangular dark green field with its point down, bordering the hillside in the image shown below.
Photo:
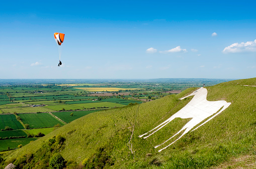
{"label": "triangular dark green field with its point down, bordering the hillside", "polygon": [[[90,114],[92,112],[99,111],[99,110],[84,110],[84,111],[62,111],[62,112],[52,112],[52,114],[56,115],[66,123],[73,121],[77,118],[80,118],[84,115]],[[70,116],[70,113],[73,113],[73,116]]]}

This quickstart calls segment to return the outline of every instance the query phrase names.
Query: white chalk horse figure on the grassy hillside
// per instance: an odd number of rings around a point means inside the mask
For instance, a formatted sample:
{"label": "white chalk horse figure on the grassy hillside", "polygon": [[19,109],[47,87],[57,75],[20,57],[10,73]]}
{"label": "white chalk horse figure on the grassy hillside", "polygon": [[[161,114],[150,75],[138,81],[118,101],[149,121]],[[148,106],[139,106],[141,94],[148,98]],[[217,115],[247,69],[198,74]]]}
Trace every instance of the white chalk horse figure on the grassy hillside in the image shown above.
{"label": "white chalk horse figure on the grassy hillside", "polygon": [[[153,133],[155,133],[156,131],[158,131],[163,126],[165,126],[167,123],[169,123],[170,121],[172,121],[173,119],[175,119],[177,117],[192,118],[187,124],[185,124],[183,126],[183,128],[180,131],[178,131],[176,134],[174,134],[172,137],[170,137],[163,143],[155,146],[155,148],[156,148],[156,147],[164,144],[165,142],[172,139],[174,136],[176,136],[177,134],[179,134],[181,131],[183,131],[185,129],[185,131],[182,133],[182,135],[179,138],[177,138],[175,141],[173,141],[169,145],[165,146],[164,148],[158,150],[160,152],[161,150],[163,150],[163,149],[167,148],[168,146],[172,145],[173,143],[175,143],[178,139],[180,139],[183,135],[185,135],[187,132],[189,132],[194,126],[199,124],[205,118],[207,118],[217,112],[216,114],[211,116],[209,119],[207,119],[205,122],[203,122],[201,125],[204,125],[206,122],[208,122],[209,120],[214,118],[216,115],[221,113],[224,109],[226,109],[231,104],[230,102],[226,102],[225,100],[208,101],[206,99],[207,89],[203,88],[203,87],[194,91],[192,94],[190,94],[188,96],[191,96],[191,95],[194,95],[194,97],[186,106],[184,106],[181,110],[176,112],[174,115],[170,116],[168,119],[163,121],[161,124],[159,124],[158,126],[153,128],[152,130],[150,130],[147,133],[144,133],[142,135],[139,135],[139,137],[142,137],[142,136],[144,136],[143,138],[149,137],[150,135],[152,135]],[[186,96],[186,97],[188,97],[188,96]],[[186,97],[183,97],[181,99],[184,99]],[[197,129],[201,125],[197,126],[195,129]],[[194,131],[195,129],[193,129],[192,131]],[[145,135],[147,135],[147,136],[145,136]]]}

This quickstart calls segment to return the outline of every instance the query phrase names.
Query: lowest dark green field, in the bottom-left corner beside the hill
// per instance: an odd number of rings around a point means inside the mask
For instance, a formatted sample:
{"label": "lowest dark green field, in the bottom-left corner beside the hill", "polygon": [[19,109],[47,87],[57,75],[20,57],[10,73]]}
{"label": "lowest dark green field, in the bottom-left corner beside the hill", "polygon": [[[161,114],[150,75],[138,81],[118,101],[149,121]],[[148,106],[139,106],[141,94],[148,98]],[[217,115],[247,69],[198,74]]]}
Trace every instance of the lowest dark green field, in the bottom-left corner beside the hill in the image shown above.
{"label": "lowest dark green field, in the bottom-left corner beside the hill", "polygon": [[20,144],[24,146],[32,140],[36,140],[36,138],[15,138],[0,140],[0,151],[7,150],[8,147],[10,147],[11,149],[17,148]]}

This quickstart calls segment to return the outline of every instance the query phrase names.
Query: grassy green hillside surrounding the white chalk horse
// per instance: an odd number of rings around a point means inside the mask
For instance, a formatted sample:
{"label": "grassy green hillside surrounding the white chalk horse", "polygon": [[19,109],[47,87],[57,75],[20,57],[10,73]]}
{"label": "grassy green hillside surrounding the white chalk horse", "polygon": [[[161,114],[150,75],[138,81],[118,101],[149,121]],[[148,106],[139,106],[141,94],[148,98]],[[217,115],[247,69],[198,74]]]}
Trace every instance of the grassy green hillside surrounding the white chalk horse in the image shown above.
{"label": "grassy green hillside surrounding the white chalk horse", "polygon": [[90,113],[22,148],[4,153],[1,164],[4,167],[14,162],[20,168],[47,168],[48,161],[58,153],[67,168],[210,168],[224,162],[237,165],[232,161],[234,158],[248,155],[254,163],[255,86],[256,78],[250,78],[206,87],[208,100],[226,100],[231,105],[161,152],[154,146],[175,134],[190,119],[176,118],[146,139],[139,135],[184,107],[193,96],[179,98],[196,88],[146,103]]}

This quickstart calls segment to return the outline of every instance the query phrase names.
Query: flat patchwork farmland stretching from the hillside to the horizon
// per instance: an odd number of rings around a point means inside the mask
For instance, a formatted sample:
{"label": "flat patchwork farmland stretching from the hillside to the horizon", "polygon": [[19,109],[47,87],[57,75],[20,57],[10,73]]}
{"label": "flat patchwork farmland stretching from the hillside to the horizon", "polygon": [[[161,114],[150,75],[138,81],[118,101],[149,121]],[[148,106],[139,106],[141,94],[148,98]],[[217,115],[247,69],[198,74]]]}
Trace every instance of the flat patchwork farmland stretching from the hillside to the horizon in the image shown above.
{"label": "flat patchwork farmland stretching from the hillside to the horizon", "polygon": [[150,101],[188,87],[143,82],[0,85],[0,151],[25,145],[89,113]]}

